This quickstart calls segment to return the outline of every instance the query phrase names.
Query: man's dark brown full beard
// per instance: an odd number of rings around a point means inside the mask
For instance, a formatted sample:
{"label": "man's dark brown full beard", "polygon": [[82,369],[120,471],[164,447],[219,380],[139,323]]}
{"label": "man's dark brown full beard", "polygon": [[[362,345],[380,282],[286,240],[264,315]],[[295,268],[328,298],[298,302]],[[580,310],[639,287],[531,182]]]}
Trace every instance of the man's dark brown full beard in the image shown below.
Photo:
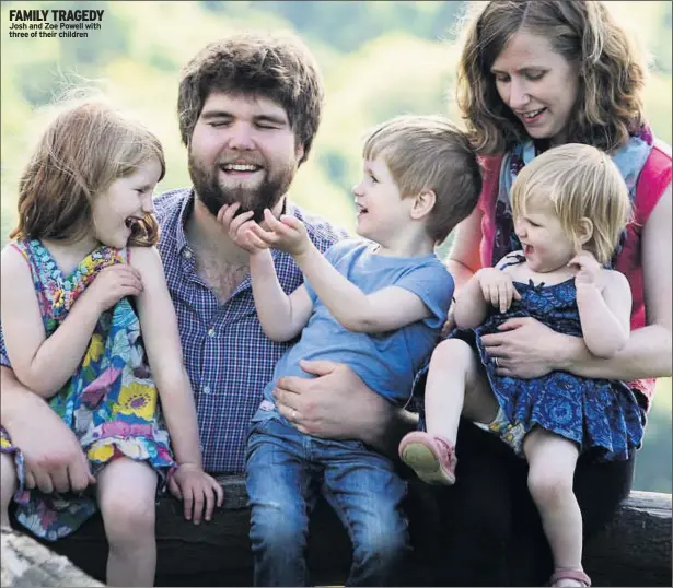
{"label": "man's dark brown full beard", "polygon": [[194,184],[196,197],[206,205],[213,216],[224,204],[233,204],[240,202],[241,208],[236,211],[236,215],[242,212],[253,211],[253,219],[256,222],[264,220],[264,209],[274,209],[292,183],[294,173],[297,172],[297,162],[289,162],[287,167],[278,169],[276,173],[269,174],[265,168],[265,175],[262,184],[255,188],[245,186],[223,187],[220,186],[219,165],[214,168],[206,169],[200,165],[197,158],[189,152],[189,176]]}

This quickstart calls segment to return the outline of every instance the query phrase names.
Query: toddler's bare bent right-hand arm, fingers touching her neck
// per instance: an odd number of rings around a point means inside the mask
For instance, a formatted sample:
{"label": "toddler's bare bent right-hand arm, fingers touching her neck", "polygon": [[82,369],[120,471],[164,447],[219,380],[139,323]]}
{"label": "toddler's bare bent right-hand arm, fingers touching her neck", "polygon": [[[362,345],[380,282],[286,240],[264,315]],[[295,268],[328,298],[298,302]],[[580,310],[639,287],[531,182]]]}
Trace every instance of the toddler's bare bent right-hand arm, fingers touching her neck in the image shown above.
{"label": "toddler's bare bent right-hand arm, fingers touching her neck", "polygon": [[626,277],[600,267],[594,272],[588,266],[597,262],[578,256],[571,262],[580,266],[575,283],[577,306],[584,343],[596,357],[610,358],[630,336],[631,290]]}

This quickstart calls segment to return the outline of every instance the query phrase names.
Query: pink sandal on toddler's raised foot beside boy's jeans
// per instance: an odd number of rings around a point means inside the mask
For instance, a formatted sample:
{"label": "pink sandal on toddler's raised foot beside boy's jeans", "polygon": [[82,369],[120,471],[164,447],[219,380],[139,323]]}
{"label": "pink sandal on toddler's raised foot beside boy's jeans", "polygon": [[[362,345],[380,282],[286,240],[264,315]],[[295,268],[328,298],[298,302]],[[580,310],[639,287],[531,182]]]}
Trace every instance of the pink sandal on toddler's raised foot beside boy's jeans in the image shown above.
{"label": "pink sandal on toddler's raised foot beside boy's jeans", "polygon": [[399,443],[399,458],[427,484],[455,482],[455,449],[443,437],[415,431]]}

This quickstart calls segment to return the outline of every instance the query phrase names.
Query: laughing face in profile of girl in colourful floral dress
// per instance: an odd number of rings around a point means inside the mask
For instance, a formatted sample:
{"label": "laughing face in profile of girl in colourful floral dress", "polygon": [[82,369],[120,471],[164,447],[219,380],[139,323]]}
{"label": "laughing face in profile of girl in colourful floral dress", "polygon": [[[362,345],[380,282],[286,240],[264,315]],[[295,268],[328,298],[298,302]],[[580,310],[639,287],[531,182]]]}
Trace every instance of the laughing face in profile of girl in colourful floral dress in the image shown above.
{"label": "laughing face in profile of girl in colourful floral dress", "polygon": [[126,247],[135,220],[154,210],[152,193],[160,176],[161,164],[151,157],[97,195],[92,207],[95,238],[109,247]]}

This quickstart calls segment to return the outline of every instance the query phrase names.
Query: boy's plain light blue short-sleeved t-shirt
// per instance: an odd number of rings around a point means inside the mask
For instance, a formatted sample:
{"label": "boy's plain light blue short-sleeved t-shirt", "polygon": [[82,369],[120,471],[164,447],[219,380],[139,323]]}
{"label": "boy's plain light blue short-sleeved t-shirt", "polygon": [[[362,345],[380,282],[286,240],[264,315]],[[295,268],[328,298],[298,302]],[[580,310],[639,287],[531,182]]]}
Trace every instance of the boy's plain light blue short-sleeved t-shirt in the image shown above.
{"label": "boy's plain light blue short-sleeved t-shirt", "polygon": [[265,400],[254,421],[278,415],[271,392],[279,377],[313,377],[301,369],[300,360],[347,364],[373,391],[398,405],[407,402],[414,377],[434,349],[446,320],[453,279],[434,254],[399,258],[380,256],[373,249],[370,242],[345,239],[333,245],[325,257],[364,294],[388,286],[404,287],[420,297],[431,316],[387,332],[349,331],[304,281],[314,304],[313,314],[300,340],[276,364],[274,378],[264,389]]}

